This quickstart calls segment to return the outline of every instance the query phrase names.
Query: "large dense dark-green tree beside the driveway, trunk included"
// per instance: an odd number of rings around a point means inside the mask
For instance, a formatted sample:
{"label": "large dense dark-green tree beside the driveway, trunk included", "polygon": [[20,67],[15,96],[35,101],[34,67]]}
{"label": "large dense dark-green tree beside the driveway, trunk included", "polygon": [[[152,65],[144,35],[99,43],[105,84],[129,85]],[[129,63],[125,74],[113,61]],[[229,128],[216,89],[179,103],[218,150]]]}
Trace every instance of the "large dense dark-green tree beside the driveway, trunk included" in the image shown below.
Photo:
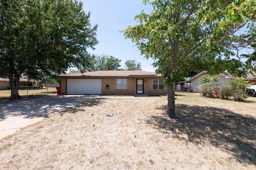
{"label": "large dense dark-green tree beside the driveway, trunk included", "polygon": [[0,77],[9,78],[11,98],[20,97],[21,75],[38,80],[89,62],[97,25],[82,7],[69,0],[0,2]]}

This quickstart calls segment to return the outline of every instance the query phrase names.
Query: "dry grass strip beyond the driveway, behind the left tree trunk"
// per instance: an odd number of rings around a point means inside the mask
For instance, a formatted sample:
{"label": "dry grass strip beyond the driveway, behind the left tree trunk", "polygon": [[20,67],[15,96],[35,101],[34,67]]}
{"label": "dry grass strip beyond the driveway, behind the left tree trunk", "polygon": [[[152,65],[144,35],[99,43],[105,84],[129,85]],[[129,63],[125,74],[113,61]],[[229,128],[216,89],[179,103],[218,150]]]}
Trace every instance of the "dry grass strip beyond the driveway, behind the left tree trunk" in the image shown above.
{"label": "dry grass strip beyond the driveway, behind the left tree trunk", "polygon": [[[57,94],[56,88],[19,90],[19,95],[22,97],[22,99],[30,99],[55,94]],[[10,96],[11,90],[0,90],[0,103],[8,102]]]}

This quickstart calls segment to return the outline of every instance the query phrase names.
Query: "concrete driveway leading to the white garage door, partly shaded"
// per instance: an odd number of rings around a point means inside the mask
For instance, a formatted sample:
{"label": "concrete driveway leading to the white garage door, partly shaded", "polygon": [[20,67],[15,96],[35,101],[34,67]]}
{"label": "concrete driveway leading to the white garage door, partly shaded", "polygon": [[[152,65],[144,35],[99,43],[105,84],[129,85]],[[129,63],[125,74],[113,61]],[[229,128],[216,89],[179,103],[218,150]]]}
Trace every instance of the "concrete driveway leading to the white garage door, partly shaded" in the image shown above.
{"label": "concrete driveway leading to the white garage door, partly shaded", "polygon": [[49,96],[0,104],[0,139],[89,98],[89,96]]}

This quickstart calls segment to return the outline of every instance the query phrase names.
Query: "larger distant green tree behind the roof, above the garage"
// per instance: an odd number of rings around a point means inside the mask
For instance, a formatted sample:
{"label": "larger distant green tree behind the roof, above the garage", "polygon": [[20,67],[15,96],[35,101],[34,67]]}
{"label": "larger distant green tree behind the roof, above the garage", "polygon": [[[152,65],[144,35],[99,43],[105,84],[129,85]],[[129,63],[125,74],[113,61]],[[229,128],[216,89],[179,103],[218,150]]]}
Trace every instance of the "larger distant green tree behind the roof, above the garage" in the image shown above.
{"label": "larger distant green tree behind the roof, above the garage", "polygon": [[115,58],[113,56],[108,56],[106,54],[95,56],[94,58],[94,71],[99,70],[118,70],[118,68],[121,66],[118,58]]}

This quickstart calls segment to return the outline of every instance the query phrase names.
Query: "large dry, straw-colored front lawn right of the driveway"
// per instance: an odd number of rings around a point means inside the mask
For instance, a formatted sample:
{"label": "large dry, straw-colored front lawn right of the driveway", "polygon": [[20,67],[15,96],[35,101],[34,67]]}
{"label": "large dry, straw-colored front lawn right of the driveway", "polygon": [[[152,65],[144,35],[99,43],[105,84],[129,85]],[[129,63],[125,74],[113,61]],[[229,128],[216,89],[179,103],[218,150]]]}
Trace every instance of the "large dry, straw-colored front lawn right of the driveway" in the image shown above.
{"label": "large dry, straw-colored front lawn right of the driveway", "polygon": [[256,98],[99,97],[0,141],[0,169],[256,169]]}

